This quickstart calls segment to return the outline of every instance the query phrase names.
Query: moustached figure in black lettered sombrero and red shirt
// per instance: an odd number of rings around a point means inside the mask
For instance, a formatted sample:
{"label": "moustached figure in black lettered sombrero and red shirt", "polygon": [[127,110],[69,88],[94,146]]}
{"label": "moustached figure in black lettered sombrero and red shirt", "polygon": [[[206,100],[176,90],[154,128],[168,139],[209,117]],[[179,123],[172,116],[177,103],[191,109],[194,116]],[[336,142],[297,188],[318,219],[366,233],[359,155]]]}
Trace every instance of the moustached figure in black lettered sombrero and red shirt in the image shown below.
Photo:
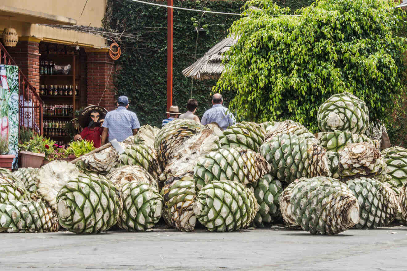
{"label": "moustached figure in black lettered sombrero and red shirt", "polygon": [[103,107],[91,105],[83,109],[81,114],[78,116],[78,121],[83,128],[80,134],[75,135],[74,140],[87,140],[92,141],[94,147],[98,148],[101,146],[101,135],[103,124],[103,119],[107,110]]}

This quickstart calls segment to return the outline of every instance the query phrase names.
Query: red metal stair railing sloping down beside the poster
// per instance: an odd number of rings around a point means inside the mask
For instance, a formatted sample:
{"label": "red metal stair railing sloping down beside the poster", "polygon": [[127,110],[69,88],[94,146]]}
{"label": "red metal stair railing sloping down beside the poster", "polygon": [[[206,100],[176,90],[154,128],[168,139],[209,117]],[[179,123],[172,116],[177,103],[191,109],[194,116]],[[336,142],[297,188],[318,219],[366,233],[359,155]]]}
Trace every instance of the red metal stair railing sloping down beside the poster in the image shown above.
{"label": "red metal stair railing sloping down beside the poster", "polygon": [[[14,59],[0,42],[0,65],[18,66]],[[18,68],[18,115],[20,128],[32,128],[34,132],[42,134],[42,105],[41,100],[35,87],[33,87],[27,78]]]}

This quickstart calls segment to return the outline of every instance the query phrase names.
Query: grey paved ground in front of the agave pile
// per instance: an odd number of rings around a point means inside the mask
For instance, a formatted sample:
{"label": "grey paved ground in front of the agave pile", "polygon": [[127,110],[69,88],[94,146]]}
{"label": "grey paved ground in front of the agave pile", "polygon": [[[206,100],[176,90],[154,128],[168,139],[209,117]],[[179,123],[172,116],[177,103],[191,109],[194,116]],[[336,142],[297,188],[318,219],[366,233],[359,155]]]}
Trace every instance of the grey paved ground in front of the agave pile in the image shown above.
{"label": "grey paved ground in front of the agave pile", "polygon": [[273,226],[239,232],[0,234],[0,271],[406,271],[407,227],[315,236]]}

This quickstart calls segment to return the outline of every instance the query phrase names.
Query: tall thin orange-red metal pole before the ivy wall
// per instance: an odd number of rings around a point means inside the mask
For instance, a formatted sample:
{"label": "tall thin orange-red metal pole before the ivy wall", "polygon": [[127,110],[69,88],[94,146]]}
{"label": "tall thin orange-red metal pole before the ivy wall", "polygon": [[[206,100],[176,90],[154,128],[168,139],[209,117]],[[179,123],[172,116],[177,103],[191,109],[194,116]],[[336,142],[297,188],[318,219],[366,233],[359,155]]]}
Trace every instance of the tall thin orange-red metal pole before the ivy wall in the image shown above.
{"label": "tall thin orange-red metal pole before the ivy wall", "polygon": [[[172,6],[173,0],[167,0]],[[173,9],[167,8],[167,111],[173,105]],[[167,115],[167,117],[169,117]]]}

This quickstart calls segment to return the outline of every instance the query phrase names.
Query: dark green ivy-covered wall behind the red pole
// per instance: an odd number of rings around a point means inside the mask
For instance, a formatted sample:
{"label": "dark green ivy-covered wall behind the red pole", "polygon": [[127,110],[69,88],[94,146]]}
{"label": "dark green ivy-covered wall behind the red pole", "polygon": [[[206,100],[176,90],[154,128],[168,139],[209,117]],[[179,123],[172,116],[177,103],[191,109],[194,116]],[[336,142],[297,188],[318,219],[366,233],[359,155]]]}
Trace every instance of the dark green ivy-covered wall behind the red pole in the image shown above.
{"label": "dark green ivy-covered wall behind the red pole", "polygon": [[[291,13],[313,1],[277,1],[282,7],[290,7]],[[156,3],[166,4],[164,1]],[[191,1],[174,0],[175,7],[189,9],[209,8],[211,11],[240,13],[245,1]],[[167,82],[167,11],[166,8],[123,1],[108,0],[104,27],[116,32],[132,33],[136,39],[119,41],[122,55],[116,61],[117,72],[114,78],[118,95],[127,95],[130,110],[137,113],[140,124],[161,126],[166,117]],[[186,102],[191,96],[191,79],[182,75],[182,70],[203,56],[212,46],[228,35],[228,28],[236,15],[210,14],[201,17],[205,31],[199,33],[196,59],[195,45],[197,32],[193,26],[201,13],[174,9],[173,11],[173,105],[181,112],[186,111]],[[216,80],[193,82],[193,98],[198,100],[197,115],[202,117],[212,106],[211,91]],[[224,92],[224,104],[228,106],[234,97],[232,92]]]}

